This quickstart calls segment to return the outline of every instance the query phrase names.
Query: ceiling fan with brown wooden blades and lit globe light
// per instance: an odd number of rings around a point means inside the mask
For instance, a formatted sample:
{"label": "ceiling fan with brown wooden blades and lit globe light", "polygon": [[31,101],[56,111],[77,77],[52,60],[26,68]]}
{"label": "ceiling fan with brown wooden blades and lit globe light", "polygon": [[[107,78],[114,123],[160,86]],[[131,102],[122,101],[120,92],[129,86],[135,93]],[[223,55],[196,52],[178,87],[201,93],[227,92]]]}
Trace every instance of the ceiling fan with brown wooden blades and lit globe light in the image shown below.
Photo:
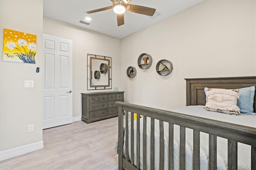
{"label": "ceiling fan with brown wooden blades and lit globe light", "polygon": [[126,10],[130,12],[135,12],[138,14],[148,15],[148,16],[153,16],[156,11],[156,9],[154,8],[128,4],[128,2],[130,2],[131,0],[110,0],[110,1],[112,1],[113,3],[112,6],[100,8],[97,10],[91,10],[84,13],[91,14],[94,12],[100,12],[100,11],[113,8],[114,12],[117,14],[117,25],[121,26],[124,24],[124,12]]}

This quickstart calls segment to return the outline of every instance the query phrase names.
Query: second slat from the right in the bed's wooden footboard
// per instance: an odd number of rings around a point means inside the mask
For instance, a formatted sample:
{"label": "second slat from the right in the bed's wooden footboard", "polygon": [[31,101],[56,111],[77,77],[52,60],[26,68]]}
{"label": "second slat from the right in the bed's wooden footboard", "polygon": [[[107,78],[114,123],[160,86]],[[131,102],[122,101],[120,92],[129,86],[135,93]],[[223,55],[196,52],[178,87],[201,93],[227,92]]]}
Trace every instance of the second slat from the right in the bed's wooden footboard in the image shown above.
{"label": "second slat from the right in the bed's wooden footboard", "polygon": [[237,170],[237,142],[233,140],[228,140],[228,170]]}

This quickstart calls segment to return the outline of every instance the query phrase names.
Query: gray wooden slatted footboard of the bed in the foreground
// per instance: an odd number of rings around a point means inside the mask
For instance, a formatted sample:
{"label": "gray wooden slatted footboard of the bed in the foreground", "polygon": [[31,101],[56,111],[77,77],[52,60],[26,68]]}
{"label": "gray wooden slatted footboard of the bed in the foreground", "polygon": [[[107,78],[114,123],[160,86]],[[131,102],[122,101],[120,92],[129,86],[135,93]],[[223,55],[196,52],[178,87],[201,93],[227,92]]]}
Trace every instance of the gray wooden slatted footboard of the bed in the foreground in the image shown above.
{"label": "gray wooden slatted footboard of the bed in the foreground", "polygon": [[[238,142],[248,144],[251,146],[251,169],[256,170],[256,128],[246,127],[242,125],[235,125],[232,123],[224,123],[221,121],[215,121],[211,119],[205,119],[201,117],[195,117],[190,115],[184,115],[180,113],[174,113],[171,111],[164,111],[160,109],[154,109],[150,107],[144,107],[139,105],[133,105],[130,103],[116,102],[119,107],[119,128],[118,128],[118,166],[119,170],[136,170],[143,168],[146,169],[146,155],[150,154],[150,167],[151,169],[164,169],[164,122],[169,123],[169,140],[168,140],[168,169],[174,168],[174,125],[180,126],[180,169],[185,169],[185,145],[186,145],[186,128],[193,129],[193,169],[200,168],[200,132],[209,134],[209,162],[208,168],[214,170],[217,168],[217,136],[228,139],[228,169],[237,169],[237,146]],[[130,113],[130,117],[128,117]],[[133,120],[133,113],[138,113],[144,116],[143,125],[140,125],[140,118],[137,115],[137,121],[130,121],[131,135],[128,135],[128,120]],[[146,138],[147,120],[146,117],[150,117],[150,139]],[[155,120],[159,120],[160,129],[160,160],[159,167],[154,165],[154,129]],[[134,123],[136,123],[137,132],[134,136]],[[142,136],[140,136],[140,127],[143,127]],[[124,142],[124,129],[126,130],[126,140]],[[147,130],[146,130],[147,129]],[[143,138],[142,144],[140,144],[140,137]],[[130,138],[130,139],[128,139]],[[136,140],[136,144],[134,143]],[[128,141],[131,141],[130,147]],[[146,151],[146,140],[150,140],[150,153]],[[125,150],[124,150],[125,145]],[[142,148],[140,149],[140,146]],[[130,149],[131,156],[128,158],[128,150]],[[134,152],[136,152],[136,158],[134,158]],[[143,152],[143,153],[140,153]],[[124,154],[125,153],[125,154]],[[143,162],[140,162],[142,157]],[[134,160],[136,159],[136,164]],[[140,165],[142,164],[142,165]]]}

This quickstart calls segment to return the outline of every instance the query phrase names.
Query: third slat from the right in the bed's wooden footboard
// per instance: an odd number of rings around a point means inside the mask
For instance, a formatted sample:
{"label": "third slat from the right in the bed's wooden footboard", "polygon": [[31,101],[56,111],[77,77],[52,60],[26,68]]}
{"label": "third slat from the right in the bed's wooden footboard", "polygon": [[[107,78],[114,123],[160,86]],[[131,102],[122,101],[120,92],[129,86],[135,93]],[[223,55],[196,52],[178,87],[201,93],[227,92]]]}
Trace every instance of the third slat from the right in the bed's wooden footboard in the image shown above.
{"label": "third slat from the right in the bed's wooden footboard", "polygon": [[209,134],[209,170],[217,169],[217,136]]}

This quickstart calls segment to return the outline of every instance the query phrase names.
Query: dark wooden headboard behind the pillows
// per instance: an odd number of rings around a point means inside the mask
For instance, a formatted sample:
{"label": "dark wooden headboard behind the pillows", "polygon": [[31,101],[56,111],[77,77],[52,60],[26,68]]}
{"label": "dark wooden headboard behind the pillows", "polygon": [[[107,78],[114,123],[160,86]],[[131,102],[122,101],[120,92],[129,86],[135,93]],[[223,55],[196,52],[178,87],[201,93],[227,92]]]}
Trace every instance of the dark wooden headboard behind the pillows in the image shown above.
{"label": "dark wooden headboard behind the pillows", "polygon": [[[205,105],[206,95],[204,87],[240,89],[255,86],[256,76],[251,77],[218,77],[218,78],[196,78],[186,80],[187,106]],[[256,112],[256,94],[254,94],[254,112]]]}

